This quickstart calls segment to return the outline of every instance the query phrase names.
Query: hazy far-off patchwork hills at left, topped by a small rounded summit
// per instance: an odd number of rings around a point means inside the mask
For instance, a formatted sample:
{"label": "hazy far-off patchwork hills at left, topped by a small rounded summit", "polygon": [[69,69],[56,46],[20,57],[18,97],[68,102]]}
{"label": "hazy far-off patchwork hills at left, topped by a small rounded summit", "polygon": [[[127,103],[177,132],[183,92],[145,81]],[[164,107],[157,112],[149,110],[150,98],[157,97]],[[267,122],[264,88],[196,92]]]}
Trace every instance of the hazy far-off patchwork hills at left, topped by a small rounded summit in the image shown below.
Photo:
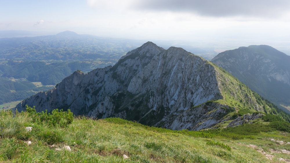
{"label": "hazy far-off patchwork hills at left, topped by a small rounded summit", "polygon": [[56,35],[2,38],[0,60],[84,61],[118,59],[142,43],[65,31]]}

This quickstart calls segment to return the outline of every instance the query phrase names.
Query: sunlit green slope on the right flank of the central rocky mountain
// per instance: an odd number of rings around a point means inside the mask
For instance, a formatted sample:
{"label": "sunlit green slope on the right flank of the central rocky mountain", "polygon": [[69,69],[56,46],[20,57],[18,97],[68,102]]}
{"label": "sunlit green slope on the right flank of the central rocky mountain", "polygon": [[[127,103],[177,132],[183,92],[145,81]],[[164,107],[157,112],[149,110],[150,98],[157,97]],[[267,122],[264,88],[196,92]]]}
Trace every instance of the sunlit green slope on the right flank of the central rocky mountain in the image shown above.
{"label": "sunlit green slope on the right flank of the central rocky mountain", "polygon": [[229,105],[234,109],[233,111],[229,111],[229,113],[224,116],[225,118],[234,118],[247,113],[261,112],[277,115],[283,120],[290,122],[289,115],[280,110],[269,100],[264,99],[256,92],[249,89],[248,86],[241,83],[225,69],[218,67],[213,63],[209,64],[215,67],[217,78],[221,81],[219,87],[222,90],[221,95],[223,98],[215,100],[215,102]]}

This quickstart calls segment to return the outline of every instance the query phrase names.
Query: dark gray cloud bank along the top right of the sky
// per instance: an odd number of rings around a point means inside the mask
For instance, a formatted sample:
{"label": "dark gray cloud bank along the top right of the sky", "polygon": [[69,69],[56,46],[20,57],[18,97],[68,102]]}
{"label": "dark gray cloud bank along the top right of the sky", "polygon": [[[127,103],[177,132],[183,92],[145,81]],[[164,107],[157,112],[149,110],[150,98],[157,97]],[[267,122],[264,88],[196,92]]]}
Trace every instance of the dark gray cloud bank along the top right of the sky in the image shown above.
{"label": "dark gray cloud bank along the top right of the sky", "polygon": [[289,0],[142,0],[133,8],[193,12],[202,16],[276,18],[290,10]]}

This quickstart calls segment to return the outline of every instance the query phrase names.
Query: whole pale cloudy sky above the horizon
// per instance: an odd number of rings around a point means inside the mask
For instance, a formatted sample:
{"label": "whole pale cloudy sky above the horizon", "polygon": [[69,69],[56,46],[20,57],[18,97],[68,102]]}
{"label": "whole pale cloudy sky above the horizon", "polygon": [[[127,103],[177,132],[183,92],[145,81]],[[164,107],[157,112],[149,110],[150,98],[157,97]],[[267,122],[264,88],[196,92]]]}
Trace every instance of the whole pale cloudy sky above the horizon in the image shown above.
{"label": "whole pale cloudy sky above the horizon", "polygon": [[0,0],[0,15],[0,30],[290,43],[289,0]]}

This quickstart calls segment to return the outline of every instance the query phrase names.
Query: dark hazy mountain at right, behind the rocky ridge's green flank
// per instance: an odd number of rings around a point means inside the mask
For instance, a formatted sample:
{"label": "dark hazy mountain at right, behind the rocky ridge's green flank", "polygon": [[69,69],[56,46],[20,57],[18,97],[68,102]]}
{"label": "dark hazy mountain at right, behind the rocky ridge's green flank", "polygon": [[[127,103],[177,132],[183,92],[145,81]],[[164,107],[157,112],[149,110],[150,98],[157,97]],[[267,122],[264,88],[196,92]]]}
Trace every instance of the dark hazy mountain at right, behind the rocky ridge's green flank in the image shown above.
{"label": "dark hazy mountain at right, behind the rocky ridge's green flank", "polygon": [[211,61],[261,96],[290,105],[290,56],[267,45],[251,45],[222,52]]}

